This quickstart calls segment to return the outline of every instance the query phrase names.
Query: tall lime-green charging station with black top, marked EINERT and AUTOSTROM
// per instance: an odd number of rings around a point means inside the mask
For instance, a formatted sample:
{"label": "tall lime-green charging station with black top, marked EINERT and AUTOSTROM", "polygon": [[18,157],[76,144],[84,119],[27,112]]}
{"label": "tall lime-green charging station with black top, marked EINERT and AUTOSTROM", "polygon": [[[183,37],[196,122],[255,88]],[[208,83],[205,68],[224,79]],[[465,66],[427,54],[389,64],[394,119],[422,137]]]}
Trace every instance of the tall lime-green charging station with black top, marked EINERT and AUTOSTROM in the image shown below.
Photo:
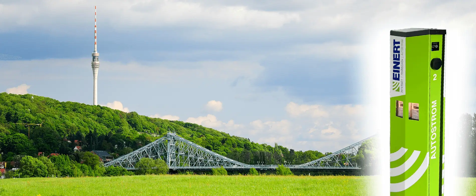
{"label": "tall lime-green charging station with black top, marked EINERT and AUTOSTROM", "polygon": [[390,196],[442,196],[445,29],[390,31]]}

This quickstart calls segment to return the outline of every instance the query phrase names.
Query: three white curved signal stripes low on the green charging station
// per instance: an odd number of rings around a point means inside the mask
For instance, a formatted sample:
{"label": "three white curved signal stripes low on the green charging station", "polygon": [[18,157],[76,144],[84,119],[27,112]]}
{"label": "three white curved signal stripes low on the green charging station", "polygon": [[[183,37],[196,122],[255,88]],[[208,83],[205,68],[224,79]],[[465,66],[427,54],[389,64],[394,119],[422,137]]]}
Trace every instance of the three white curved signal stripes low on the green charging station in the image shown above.
{"label": "three white curved signal stripes low on the green charging station", "polygon": [[[400,159],[403,157],[405,152],[407,152],[408,149],[405,148],[400,148],[397,150],[397,152],[390,153],[390,162],[396,161],[397,159]],[[410,158],[408,158],[405,163],[402,165],[396,167],[396,168],[390,168],[390,177],[398,176],[403,173],[405,173],[408,168],[410,168],[415,161],[417,161],[418,156],[420,155],[420,151],[418,150],[413,150],[412,155],[410,155]],[[399,183],[390,183],[390,192],[400,192],[407,190],[407,188],[411,187],[414,185],[422,176],[425,174],[426,169],[428,168],[429,164],[429,152],[426,153],[425,160],[423,163],[418,167],[417,171],[413,173],[410,177],[408,177],[406,180],[399,182]]]}

